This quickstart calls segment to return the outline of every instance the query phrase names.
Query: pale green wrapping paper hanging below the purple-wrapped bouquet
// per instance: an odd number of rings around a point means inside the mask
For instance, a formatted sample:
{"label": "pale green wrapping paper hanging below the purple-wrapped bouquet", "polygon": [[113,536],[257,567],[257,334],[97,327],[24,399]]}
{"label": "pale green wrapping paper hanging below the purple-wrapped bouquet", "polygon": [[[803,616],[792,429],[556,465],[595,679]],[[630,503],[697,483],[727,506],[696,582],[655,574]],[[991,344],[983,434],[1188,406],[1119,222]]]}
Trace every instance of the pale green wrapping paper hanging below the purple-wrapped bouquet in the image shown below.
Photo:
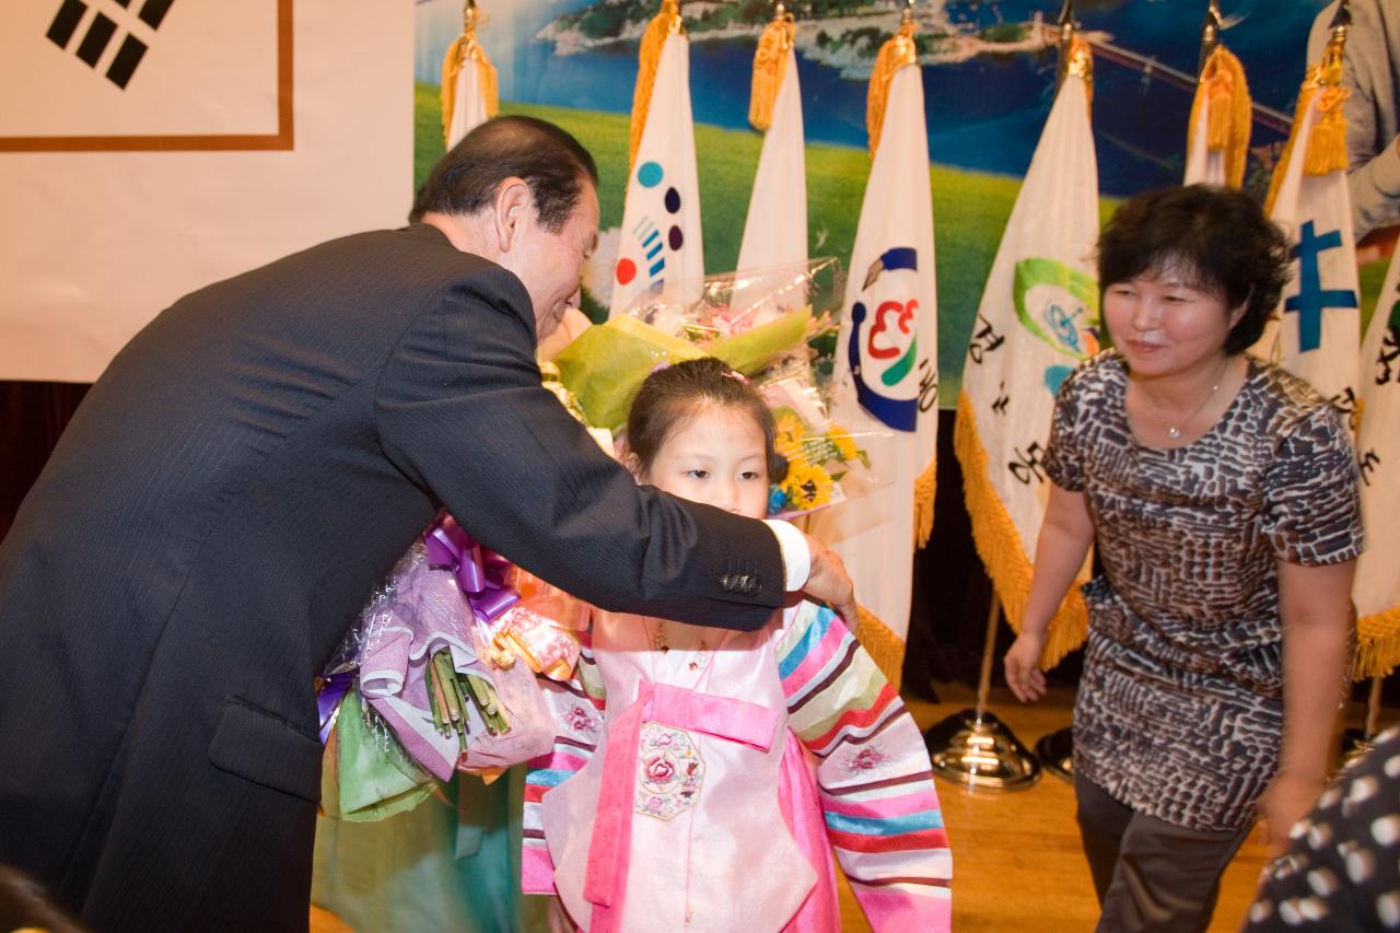
{"label": "pale green wrapping paper hanging below the purple-wrapped bouquet", "polygon": [[[351,822],[372,822],[407,813],[433,794],[435,780],[409,758],[384,723],[371,728],[374,716],[350,689],[340,700],[336,719],[339,789],[322,783],[322,799],[339,804],[339,817]],[[329,769],[328,769],[329,770]]]}

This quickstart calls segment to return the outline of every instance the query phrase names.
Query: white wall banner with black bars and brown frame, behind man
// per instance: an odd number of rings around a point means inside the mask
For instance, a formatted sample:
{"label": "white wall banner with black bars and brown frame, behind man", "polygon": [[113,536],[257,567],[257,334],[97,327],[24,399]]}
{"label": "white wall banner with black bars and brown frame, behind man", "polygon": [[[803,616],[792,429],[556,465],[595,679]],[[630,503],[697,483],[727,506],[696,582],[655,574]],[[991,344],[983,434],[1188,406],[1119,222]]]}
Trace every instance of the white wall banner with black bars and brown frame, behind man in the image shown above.
{"label": "white wall banner with black bars and brown frame, behind man", "polygon": [[182,294],[407,214],[410,4],[25,0],[0,62],[0,378],[92,381]]}

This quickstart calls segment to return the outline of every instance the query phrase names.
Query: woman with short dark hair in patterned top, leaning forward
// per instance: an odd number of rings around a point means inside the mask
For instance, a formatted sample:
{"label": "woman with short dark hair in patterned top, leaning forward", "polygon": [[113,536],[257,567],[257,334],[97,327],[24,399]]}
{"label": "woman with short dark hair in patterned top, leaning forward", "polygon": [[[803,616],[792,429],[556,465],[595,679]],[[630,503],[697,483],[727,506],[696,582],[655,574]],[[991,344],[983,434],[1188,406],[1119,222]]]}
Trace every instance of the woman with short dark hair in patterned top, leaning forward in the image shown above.
{"label": "woman with short dark hair in patterned top, leaning forward", "polygon": [[1322,790],[1361,552],[1341,416],[1245,353],[1287,282],[1247,196],[1128,200],[1099,242],[1114,350],[1060,388],[1053,481],[1007,681],[1044,692],[1046,625],[1098,548],[1074,773],[1099,930],[1204,930],[1256,817]]}

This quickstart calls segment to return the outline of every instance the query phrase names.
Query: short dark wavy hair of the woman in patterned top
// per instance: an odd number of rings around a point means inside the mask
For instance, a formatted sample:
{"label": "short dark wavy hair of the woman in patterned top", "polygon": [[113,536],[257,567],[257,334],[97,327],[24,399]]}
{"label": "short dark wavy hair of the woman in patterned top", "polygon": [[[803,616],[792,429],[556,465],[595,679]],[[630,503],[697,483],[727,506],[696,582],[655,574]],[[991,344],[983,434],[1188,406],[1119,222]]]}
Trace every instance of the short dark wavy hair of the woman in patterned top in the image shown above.
{"label": "short dark wavy hair of the woman in patterned top", "polygon": [[1225,338],[1243,353],[1264,332],[1288,282],[1288,241],[1245,193],[1211,185],[1137,195],[1119,207],[1099,237],[1099,287],[1145,272],[1182,272],[1191,287],[1245,315]]}

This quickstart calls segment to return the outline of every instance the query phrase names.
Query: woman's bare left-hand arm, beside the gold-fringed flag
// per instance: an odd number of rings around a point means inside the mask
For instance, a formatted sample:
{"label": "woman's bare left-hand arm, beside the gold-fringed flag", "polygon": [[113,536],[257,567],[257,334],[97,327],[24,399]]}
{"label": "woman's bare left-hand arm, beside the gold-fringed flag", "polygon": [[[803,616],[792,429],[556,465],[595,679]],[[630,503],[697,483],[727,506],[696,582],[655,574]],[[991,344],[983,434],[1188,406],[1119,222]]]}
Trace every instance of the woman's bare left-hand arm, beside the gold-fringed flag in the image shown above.
{"label": "woman's bare left-hand arm, beside the gold-fringed flag", "polygon": [[1021,621],[1021,635],[1005,657],[1007,684],[1022,703],[1044,696],[1040,651],[1046,644],[1046,628],[1079,576],[1092,544],[1093,521],[1085,495],[1051,482],[1050,502],[1036,539],[1036,567],[1026,597],[1026,614]]}

